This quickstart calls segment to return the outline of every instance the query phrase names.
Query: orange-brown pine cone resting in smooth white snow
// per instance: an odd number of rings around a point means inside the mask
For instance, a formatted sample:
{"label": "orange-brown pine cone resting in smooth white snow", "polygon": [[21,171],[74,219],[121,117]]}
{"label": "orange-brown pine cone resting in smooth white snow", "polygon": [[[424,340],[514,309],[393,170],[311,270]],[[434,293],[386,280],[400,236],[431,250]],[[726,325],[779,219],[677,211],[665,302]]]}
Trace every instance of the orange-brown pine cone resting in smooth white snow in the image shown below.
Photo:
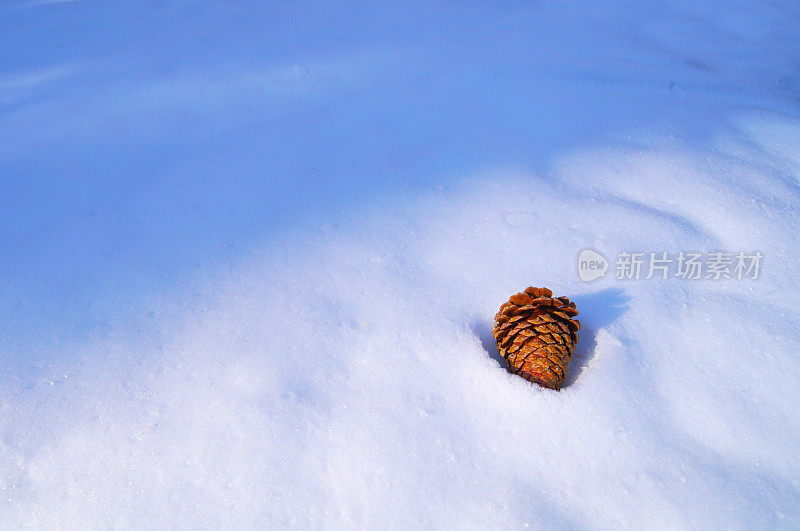
{"label": "orange-brown pine cone resting in smooth white snow", "polygon": [[578,342],[575,303],[553,298],[547,288],[513,295],[494,317],[492,334],[508,370],[530,382],[558,390]]}

